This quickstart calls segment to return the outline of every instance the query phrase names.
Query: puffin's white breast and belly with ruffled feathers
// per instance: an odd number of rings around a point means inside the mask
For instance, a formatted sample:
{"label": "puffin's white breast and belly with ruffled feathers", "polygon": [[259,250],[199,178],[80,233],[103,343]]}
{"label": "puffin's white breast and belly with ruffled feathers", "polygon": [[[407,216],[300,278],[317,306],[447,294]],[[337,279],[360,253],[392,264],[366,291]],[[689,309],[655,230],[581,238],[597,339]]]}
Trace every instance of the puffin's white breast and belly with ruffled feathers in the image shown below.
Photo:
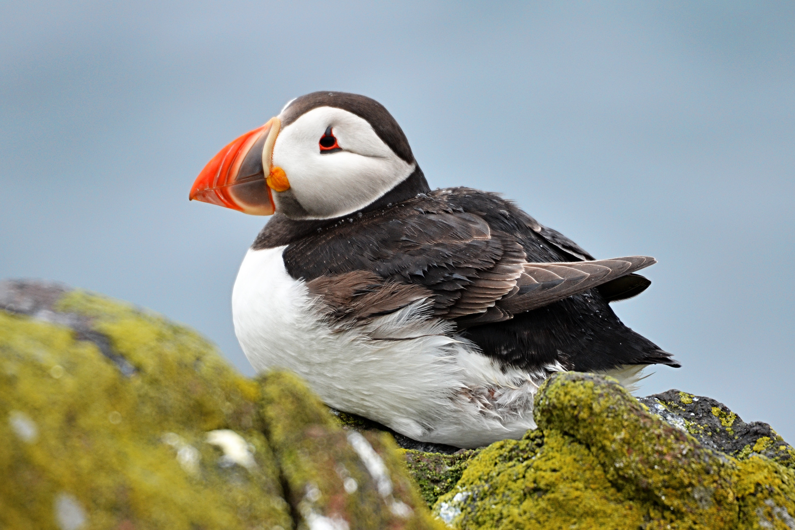
{"label": "puffin's white breast and belly with ruffled feathers", "polygon": [[502,372],[420,302],[332,329],[304,282],[285,271],[284,249],[248,251],[232,292],[235,333],[255,370],[296,372],[329,406],[423,442],[477,447],[535,428],[537,384],[558,367]]}

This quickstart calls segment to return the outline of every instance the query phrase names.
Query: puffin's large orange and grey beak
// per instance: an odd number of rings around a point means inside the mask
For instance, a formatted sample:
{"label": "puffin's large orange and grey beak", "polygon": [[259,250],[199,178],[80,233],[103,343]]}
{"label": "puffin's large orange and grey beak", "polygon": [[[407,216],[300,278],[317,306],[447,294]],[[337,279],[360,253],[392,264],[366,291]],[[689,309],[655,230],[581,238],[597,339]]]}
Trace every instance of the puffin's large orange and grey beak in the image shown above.
{"label": "puffin's large orange and grey beak", "polygon": [[276,210],[271,189],[289,189],[285,172],[271,162],[280,127],[279,119],[271,118],[220,150],[196,177],[188,198],[270,216]]}

